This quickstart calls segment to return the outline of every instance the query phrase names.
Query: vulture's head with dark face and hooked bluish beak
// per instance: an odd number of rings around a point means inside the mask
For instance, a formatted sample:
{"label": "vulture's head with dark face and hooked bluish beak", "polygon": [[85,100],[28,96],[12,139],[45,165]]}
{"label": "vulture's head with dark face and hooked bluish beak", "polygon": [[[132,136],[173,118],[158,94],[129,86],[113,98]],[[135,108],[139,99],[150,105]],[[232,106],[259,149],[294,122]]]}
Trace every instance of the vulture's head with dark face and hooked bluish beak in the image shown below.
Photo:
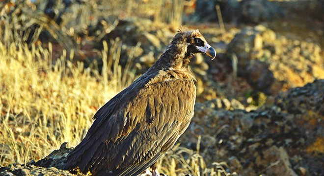
{"label": "vulture's head with dark face and hooked bluish beak", "polygon": [[183,39],[187,43],[187,56],[192,56],[195,53],[205,53],[213,59],[216,57],[215,49],[209,45],[206,39],[200,34],[198,30],[189,30],[183,33]]}

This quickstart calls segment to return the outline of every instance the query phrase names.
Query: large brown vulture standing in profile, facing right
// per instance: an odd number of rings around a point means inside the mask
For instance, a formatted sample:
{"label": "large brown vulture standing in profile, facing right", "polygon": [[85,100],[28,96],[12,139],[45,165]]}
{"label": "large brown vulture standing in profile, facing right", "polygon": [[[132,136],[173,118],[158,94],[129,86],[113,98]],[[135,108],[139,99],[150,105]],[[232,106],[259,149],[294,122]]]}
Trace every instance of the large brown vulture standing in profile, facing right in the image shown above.
{"label": "large brown vulture standing in profile, facing right", "polygon": [[195,53],[212,59],[215,49],[198,30],[178,30],[156,63],[94,115],[84,139],[67,156],[64,170],[93,176],[137,176],[185,132],[193,117]]}

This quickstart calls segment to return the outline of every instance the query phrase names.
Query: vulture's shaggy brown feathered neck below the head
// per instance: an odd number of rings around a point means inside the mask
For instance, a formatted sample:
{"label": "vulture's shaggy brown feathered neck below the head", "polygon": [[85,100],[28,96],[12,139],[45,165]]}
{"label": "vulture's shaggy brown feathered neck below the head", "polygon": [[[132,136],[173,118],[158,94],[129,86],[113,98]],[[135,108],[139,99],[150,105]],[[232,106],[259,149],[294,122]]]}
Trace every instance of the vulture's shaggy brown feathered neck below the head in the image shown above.
{"label": "vulture's shaggy brown feathered neck below the head", "polygon": [[173,39],[152,67],[158,69],[187,68],[191,57],[190,54],[187,54],[187,43],[183,39]]}

